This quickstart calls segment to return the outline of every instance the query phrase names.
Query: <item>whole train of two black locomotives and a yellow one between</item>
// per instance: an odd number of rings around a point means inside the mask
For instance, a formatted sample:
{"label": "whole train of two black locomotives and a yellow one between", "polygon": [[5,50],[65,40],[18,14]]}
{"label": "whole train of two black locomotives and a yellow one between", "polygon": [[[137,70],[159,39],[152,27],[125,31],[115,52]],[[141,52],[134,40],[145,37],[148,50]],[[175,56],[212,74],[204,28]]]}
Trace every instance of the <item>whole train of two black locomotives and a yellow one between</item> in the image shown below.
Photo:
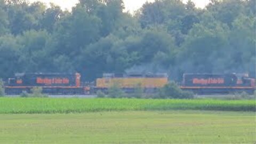
{"label": "whole train of two black locomotives and a yellow one between", "polygon": [[[167,74],[103,74],[95,84],[81,82],[78,73],[22,73],[15,74],[5,84],[6,94],[31,92],[33,87],[42,87],[46,94],[95,94],[108,92],[109,87],[118,84],[126,93],[132,93],[140,86],[145,93],[156,93],[169,81]],[[228,94],[235,92],[253,93],[255,79],[247,74],[183,74],[180,88],[196,94]]]}

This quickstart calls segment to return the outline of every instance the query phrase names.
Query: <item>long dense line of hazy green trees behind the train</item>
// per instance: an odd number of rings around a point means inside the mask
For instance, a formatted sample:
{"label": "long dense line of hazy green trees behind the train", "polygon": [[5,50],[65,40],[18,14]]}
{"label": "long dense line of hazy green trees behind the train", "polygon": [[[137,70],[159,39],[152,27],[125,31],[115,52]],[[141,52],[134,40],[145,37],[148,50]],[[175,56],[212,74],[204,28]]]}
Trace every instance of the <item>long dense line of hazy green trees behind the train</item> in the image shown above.
{"label": "long dense line of hazy green trees behind the train", "polygon": [[15,73],[249,73],[255,77],[255,0],[79,0],[72,11],[0,0],[0,77]]}

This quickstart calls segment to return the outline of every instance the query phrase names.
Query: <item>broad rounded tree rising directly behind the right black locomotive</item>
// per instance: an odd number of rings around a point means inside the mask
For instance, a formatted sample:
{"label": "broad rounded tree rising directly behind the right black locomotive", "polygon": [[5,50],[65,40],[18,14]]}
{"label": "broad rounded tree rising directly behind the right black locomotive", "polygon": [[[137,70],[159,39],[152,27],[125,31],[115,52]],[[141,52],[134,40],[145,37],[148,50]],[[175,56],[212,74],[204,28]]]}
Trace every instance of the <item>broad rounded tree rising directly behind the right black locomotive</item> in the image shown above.
{"label": "broad rounded tree rising directly behind the right black locomotive", "polygon": [[184,69],[190,73],[222,70],[219,67],[225,67],[225,63],[219,61],[228,55],[228,34],[228,26],[221,22],[194,25],[182,47],[180,60],[185,61]]}

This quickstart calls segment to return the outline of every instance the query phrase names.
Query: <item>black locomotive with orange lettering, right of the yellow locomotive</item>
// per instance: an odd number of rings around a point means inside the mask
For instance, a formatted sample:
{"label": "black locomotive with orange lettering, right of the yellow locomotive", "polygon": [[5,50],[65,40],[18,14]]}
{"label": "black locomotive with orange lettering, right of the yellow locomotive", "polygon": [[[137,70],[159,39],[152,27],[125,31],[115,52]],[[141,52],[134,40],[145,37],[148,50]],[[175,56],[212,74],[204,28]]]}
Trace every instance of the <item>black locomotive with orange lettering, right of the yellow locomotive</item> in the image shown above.
{"label": "black locomotive with orange lettering, right of the yellow locomotive", "polygon": [[180,88],[197,94],[253,93],[255,79],[247,74],[184,74]]}

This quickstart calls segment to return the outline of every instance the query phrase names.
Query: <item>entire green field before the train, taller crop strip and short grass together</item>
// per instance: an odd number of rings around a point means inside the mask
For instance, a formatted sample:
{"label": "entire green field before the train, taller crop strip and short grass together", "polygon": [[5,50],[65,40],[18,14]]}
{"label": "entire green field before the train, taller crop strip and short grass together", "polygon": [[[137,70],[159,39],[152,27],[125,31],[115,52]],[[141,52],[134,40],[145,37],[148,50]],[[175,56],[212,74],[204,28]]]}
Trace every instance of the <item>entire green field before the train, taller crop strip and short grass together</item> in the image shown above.
{"label": "entire green field before the train, taller crop strip and short grass together", "polygon": [[254,100],[0,98],[0,143],[254,143]]}

